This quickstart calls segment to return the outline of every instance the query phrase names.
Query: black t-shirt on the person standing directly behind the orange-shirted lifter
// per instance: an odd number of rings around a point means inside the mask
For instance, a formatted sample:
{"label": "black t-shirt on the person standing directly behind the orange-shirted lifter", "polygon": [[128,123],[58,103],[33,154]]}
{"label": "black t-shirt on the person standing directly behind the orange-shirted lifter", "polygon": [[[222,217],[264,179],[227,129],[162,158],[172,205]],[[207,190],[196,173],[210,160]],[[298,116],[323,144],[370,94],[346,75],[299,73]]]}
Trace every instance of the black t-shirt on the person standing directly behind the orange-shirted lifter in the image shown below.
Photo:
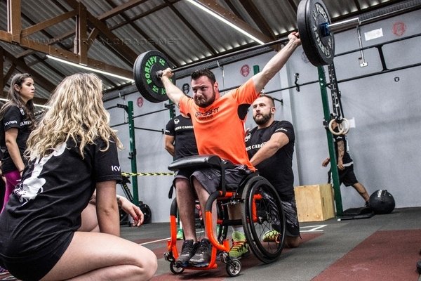
{"label": "black t-shirt on the person standing directly behind the orange-shirted lifter", "polygon": [[174,159],[197,155],[192,119],[178,115],[166,124],[165,134],[174,136]]}

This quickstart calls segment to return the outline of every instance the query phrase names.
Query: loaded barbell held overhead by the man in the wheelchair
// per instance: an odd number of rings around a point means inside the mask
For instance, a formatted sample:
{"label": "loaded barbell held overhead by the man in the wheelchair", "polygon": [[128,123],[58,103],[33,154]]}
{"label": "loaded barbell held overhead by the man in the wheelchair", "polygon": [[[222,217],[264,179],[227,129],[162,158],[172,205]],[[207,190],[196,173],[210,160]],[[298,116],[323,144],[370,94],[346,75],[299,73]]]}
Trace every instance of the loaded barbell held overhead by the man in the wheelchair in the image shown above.
{"label": "loaded barbell held overhead by the man in the wheelchair", "polygon": [[[330,15],[326,9],[325,4],[321,0],[302,0],[298,4],[297,11],[297,25],[300,33],[301,45],[307,55],[307,58],[312,65],[319,67],[322,65],[330,65],[333,63],[335,56],[335,40],[333,33],[340,30],[345,30],[349,27],[356,27],[360,25],[359,18],[352,18],[342,22],[332,24],[330,22]],[[272,42],[260,46],[253,46],[234,53],[246,53],[264,48],[266,46],[288,42],[288,38],[277,39]],[[220,60],[222,58],[232,56],[234,53],[227,53],[209,60],[204,60],[194,65],[204,64],[210,60]],[[135,60],[133,65],[133,75],[135,85],[140,94],[152,103],[161,103],[168,100],[165,88],[161,82],[162,71],[171,67],[166,56],[159,51],[147,51],[141,53]],[[186,67],[174,68],[173,72],[185,69]],[[175,76],[172,78],[175,82]]]}

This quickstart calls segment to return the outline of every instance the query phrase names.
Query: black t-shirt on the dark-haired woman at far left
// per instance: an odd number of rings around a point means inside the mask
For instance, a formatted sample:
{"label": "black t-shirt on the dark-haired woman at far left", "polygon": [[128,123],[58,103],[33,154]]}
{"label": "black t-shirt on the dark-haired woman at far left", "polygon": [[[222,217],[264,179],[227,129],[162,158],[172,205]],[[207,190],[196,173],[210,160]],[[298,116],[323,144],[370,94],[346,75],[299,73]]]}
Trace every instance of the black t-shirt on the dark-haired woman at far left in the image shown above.
{"label": "black t-shirt on the dark-haired woman at far left", "polygon": [[17,169],[15,164],[13,163],[11,155],[9,155],[8,150],[6,148],[6,137],[4,136],[5,131],[11,128],[17,128],[19,130],[18,137],[16,138],[16,143],[18,143],[20,157],[22,157],[22,160],[24,160],[25,163],[23,152],[27,148],[27,140],[29,137],[29,133],[31,133],[31,127],[32,122],[31,120],[29,120],[27,115],[25,115],[25,111],[22,110],[22,108],[16,105],[12,105],[4,113],[4,117],[1,120],[0,125],[0,145],[1,150],[4,151],[3,158],[1,159],[1,171],[3,171],[3,173],[8,173]]}

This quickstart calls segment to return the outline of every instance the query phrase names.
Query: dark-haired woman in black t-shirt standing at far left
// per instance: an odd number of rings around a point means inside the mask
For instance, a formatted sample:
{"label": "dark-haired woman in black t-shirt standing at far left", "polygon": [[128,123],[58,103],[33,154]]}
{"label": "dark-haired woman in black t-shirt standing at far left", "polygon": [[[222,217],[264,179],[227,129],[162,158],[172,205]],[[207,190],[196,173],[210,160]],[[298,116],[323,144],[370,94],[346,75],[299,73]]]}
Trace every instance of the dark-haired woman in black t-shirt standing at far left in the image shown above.
{"label": "dark-haired woman in black t-shirt standing at far left", "polygon": [[3,211],[25,167],[23,152],[34,124],[34,79],[27,73],[16,74],[8,91],[8,101],[0,110],[0,147],[4,152],[1,171],[6,178]]}

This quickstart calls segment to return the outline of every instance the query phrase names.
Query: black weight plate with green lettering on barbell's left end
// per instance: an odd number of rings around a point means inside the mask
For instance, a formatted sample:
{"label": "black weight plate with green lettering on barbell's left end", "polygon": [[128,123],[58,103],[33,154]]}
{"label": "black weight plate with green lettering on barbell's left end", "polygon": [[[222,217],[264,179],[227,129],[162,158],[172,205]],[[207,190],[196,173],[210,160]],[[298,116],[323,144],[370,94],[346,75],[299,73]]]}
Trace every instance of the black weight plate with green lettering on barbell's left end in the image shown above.
{"label": "black weight plate with green lettering on barbell's left end", "polygon": [[[168,100],[161,79],[156,72],[170,67],[168,59],[159,51],[147,51],[136,58],[133,66],[135,84],[140,94],[151,103],[161,103]],[[174,83],[175,77],[172,77]]]}

